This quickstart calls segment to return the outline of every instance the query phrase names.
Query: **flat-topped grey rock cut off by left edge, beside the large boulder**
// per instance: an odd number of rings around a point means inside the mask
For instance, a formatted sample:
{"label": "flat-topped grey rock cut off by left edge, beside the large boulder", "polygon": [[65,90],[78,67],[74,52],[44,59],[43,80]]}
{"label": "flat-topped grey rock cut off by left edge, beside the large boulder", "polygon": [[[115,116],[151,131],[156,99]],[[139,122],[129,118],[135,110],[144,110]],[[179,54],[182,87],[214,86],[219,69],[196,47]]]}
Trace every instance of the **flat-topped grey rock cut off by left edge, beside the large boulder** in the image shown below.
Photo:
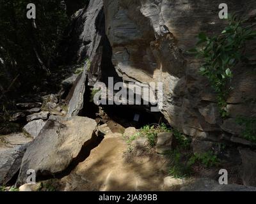
{"label": "flat-topped grey rock cut off by left edge, beside the large boulder", "polygon": [[22,133],[1,136],[0,141],[0,185],[6,185],[19,171],[20,164],[28,143]]}

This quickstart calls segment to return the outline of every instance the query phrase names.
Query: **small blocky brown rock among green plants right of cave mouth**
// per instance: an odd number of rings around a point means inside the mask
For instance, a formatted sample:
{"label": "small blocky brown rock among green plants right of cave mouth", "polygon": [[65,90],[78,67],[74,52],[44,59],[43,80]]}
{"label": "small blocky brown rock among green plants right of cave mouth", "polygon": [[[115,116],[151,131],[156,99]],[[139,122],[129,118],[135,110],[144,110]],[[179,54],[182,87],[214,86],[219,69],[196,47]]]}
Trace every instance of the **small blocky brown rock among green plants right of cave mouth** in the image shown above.
{"label": "small blocky brown rock among green plants right of cave mouth", "polygon": [[163,154],[167,150],[172,150],[172,133],[159,133],[157,135],[156,152]]}

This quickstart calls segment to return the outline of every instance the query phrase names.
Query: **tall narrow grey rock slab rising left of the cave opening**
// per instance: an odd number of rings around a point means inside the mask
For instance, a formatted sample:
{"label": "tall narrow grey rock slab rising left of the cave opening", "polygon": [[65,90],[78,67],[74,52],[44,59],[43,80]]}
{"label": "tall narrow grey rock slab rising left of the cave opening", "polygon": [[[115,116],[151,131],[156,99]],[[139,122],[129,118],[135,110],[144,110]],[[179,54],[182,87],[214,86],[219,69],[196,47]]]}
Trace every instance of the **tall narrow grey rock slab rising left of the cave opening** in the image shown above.
{"label": "tall narrow grey rock slab rising left of the cave opening", "polygon": [[[102,35],[104,35],[104,13],[102,0],[90,1],[88,7],[77,11],[73,17],[70,32],[67,36],[68,45],[63,51],[63,59],[68,63],[86,62],[84,71],[77,78],[67,96],[67,117],[78,115],[83,108],[83,96],[86,77],[96,81],[100,77],[100,63],[102,59]],[[89,66],[90,65],[90,66]],[[93,74],[97,77],[94,80]]]}

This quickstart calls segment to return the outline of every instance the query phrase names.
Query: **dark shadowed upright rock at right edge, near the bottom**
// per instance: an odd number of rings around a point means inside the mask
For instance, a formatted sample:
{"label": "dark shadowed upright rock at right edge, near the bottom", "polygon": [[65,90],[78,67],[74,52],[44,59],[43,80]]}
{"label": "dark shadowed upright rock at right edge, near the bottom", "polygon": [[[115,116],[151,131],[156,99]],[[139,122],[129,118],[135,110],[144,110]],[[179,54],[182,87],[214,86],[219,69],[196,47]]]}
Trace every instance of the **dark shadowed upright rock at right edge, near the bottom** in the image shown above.
{"label": "dark shadowed upright rock at right edge, near the bottom", "polygon": [[242,179],[246,186],[256,186],[256,152],[239,149],[242,158]]}

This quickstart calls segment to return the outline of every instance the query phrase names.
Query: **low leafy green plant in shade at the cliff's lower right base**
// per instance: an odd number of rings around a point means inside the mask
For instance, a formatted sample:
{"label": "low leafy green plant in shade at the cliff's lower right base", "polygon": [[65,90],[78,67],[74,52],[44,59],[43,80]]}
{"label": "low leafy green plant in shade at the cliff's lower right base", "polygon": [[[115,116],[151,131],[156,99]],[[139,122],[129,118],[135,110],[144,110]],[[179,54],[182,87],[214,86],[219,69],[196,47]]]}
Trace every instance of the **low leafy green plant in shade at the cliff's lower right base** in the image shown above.
{"label": "low leafy green plant in shade at the cliff's lower right base", "polygon": [[205,152],[203,154],[195,153],[193,156],[190,157],[188,161],[188,166],[192,166],[196,162],[203,164],[207,168],[216,166],[218,163],[220,163],[218,157],[214,155],[211,151]]}

